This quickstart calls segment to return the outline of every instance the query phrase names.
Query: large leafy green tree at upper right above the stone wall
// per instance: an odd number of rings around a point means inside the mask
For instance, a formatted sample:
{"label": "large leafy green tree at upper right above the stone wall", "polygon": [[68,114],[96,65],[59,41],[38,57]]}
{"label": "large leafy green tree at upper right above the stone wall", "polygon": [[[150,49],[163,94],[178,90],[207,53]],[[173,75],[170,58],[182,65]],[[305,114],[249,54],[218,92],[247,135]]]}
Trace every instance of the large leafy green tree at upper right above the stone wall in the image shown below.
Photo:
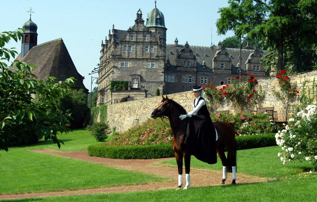
{"label": "large leafy green tree at upper right above the stone wall", "polygon": [[[314,50],[317,44],[317,0],[228,0],[228,3],[228,7],[218,11],[218,34],[233,30],[236,36],[247,34],[265,39],[268,47],[277,50],[278,71],[289,63],[315,65],[316,51],[305,56],[303,53]],[[288,56],[284,57],[286,52]]]}

